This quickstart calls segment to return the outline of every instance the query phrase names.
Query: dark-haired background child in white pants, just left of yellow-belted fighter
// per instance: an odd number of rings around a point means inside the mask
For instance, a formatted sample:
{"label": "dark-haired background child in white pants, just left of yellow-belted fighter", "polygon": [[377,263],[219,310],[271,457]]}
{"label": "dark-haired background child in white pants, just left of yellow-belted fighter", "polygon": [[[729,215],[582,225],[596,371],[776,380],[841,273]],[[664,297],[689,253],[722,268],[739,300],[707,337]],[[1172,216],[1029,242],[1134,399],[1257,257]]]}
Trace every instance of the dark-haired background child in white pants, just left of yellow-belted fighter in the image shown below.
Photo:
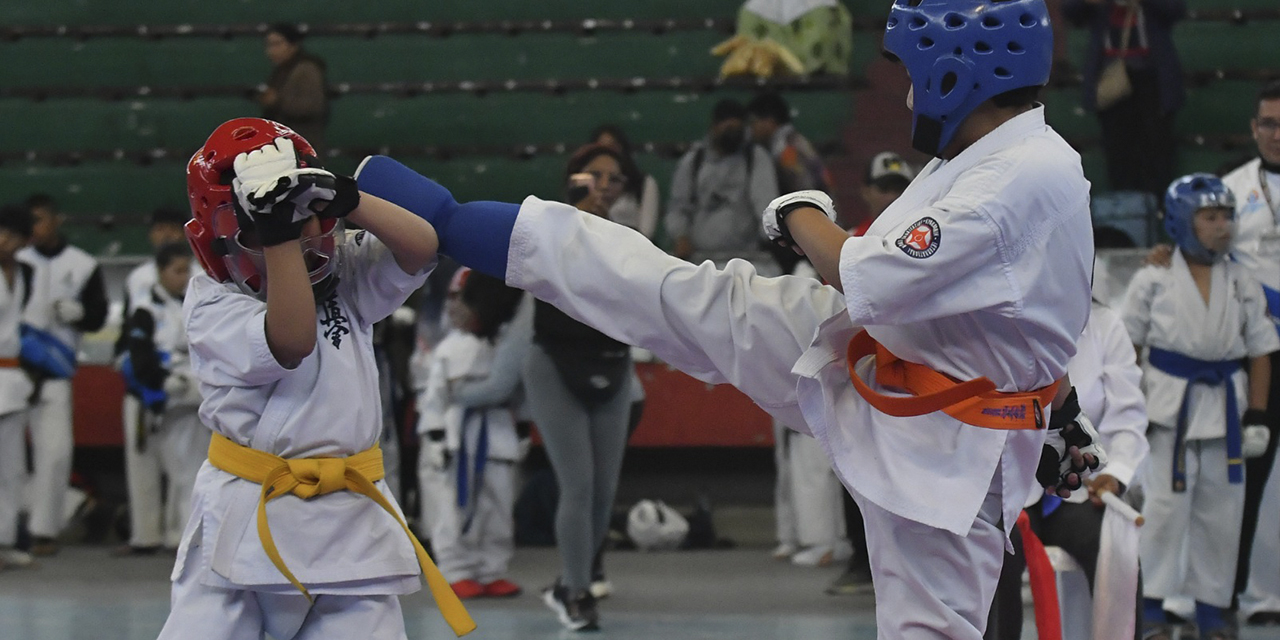
{"label": "dark-haired background child in white pants, just left of yellow-belted fighter", "polygon": [[[200,424],[200,388],[187,357],[182,298],[191,279],[186,242],[156,251],[155,280],[132,298],[122,340],[124,471],[129,486],[129,543],[116,556],[175,549],[191,520],[191,492],[209,451]],[[168,490],[161,500],[161,481]]]}

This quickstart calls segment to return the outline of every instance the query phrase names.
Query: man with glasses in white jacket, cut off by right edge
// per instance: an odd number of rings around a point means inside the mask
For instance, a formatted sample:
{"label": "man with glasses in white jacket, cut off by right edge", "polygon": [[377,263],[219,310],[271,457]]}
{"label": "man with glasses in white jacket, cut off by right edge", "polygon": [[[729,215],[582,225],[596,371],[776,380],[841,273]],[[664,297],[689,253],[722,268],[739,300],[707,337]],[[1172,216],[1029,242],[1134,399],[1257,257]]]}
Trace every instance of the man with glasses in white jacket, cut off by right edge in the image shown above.
{"label": "man with glasses in white jacket, cut off by right edge", "polygon": [[[1280,317],[1280,229],[1276,228],[1280,215],[1280,81],[1267,83],[1258,92],[1249,125],[1258,156],[1222,178],[1235,193],[1233,256],[1262,283],[1271,316]],[[1271,355],[1271,370],[1280,371],[1280,355]],[[1244,462],[1244,520],[1235,590],[1240,593],[1240,614],[1247,621],[1276,623],[1280,622],[1280,534],[1276,531],[1280,480],[1275,477],[1275,457],[1280,440],[1276,433],[1280,374],[1271,376],[1267,408],[1271,413],[1267,451]],[[1267,525],[1265,535],[1256,538],[1258,522]]]}

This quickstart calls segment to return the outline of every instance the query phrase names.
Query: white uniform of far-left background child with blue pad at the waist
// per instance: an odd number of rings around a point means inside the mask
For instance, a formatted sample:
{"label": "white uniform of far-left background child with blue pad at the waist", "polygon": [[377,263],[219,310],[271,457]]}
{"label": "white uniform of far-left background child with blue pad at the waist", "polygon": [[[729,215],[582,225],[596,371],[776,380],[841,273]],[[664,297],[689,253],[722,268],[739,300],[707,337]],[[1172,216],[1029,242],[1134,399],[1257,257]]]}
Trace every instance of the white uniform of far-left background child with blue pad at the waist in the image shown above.
{"label": "white uniform of far-left background child with blue pad at the waist", "polygon": [[[58,320],[54,302],[59,300],[82,301],[90,279],[97,271],[97,261],[78,247],[65,246],[49,256],[36,247],[18,252],[18,260],[33,269],[31,300],[23,311],[23,321],[51,333],[69,346],[79,348],[79,330]],[[67,520],[67,494],[72,475],[72,381],[45,380],[31,407],[31,451],[35,472],[29,484],[31,534],[58,538]]]}

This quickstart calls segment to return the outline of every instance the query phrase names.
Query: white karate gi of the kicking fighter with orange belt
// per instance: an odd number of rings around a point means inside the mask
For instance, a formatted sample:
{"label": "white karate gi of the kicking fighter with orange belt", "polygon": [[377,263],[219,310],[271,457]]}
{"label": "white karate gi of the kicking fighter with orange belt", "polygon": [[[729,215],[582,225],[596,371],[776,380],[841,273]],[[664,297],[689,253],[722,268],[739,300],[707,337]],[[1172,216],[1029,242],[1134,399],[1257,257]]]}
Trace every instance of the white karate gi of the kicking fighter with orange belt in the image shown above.
{"label": "white karate gi of the kicking fighter with orange belt", "polygon": [[[863,511],[879,637],[978,639],[1044,434],[882,415],[850,383],[845,348],[865,326],[957,379],[984,375],[1004,392],[1052,384],[1089,314],[1088,191],[1079,155],[1036,108],[931,163],[865,237],[845,241],[845,296],[759,278],[742,261],[690,265],[532,197],[507,282],[810,431]],[[925,218],[938,224],[936,251],[911,257],[897,242]],[[859,365],[863,379],[872,365]]]}

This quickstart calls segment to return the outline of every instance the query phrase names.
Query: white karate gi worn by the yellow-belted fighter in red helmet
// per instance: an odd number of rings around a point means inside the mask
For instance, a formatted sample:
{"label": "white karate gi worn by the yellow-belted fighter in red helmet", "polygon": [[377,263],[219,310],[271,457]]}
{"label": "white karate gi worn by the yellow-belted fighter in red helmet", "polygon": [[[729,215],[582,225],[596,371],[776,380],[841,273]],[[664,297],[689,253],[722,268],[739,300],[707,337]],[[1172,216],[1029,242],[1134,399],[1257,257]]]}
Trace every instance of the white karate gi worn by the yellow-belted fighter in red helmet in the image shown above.
{"label": "white karate gi worn by the yellow-belted fighter in red helmet", "polygon": [[[183,311],[205,425],[283,458],[347,457],[378,443],[372,325],[421,287],[430,268],[403,273],[365,232],[347,234],[338,265],[337,292],[317,301],[315,351],[292,370],[266,344],[264,302],[205,274],[192,278]],[[387,483],[375,484],[394,504]],[[200,468],[160,637],[256,637],[242,635],[246,628],[288,631],[271,631],[276,637],[403,637],[394,595],[420,588],[420,568],[396,518],[351,492],[271,500],[280,557],[317,596],[308,616],[306,599],[262,550],[260,490],[207,462]]]}

